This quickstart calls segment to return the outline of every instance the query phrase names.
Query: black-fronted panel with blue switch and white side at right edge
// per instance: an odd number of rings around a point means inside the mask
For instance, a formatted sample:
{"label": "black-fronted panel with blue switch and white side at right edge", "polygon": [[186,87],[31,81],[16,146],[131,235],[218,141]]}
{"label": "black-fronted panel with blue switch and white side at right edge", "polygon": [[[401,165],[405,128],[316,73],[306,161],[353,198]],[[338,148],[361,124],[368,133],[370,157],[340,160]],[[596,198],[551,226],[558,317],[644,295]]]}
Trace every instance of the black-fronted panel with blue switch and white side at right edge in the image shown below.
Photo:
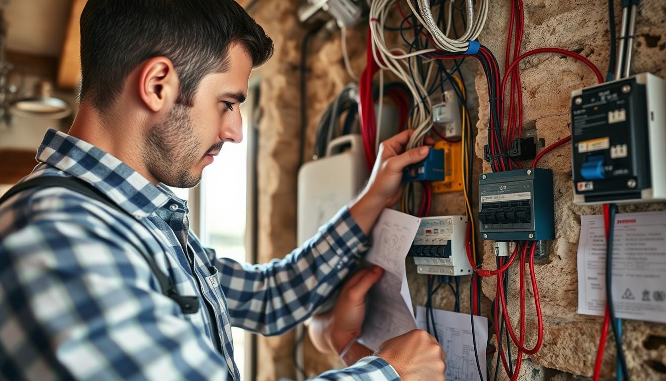
{"label": "black-fronted panel with blue switch and white side at right edge", "polygon": [[571,93],[575,204],[666,200],[665,103],[650,73]]}

